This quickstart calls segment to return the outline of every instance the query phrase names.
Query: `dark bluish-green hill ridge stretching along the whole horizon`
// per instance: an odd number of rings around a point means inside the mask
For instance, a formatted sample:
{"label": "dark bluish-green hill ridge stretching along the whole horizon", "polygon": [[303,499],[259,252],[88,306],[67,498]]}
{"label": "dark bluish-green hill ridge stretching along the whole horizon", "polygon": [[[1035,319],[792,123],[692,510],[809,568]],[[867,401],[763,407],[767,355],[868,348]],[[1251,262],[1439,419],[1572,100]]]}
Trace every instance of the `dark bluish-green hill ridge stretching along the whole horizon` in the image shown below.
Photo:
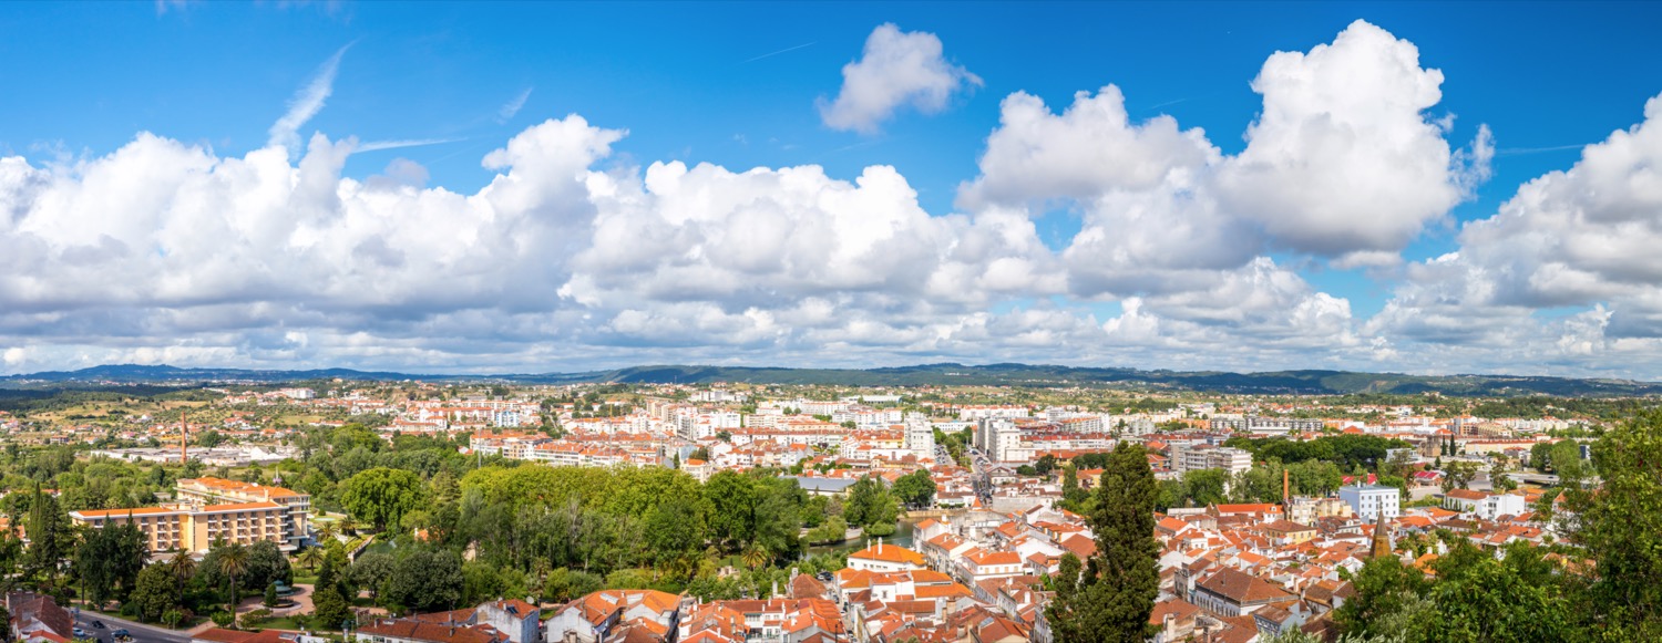
{"label": "dark bluish-green hill ridge stretching along the whole horizon", "polygon": [[0,377],[7,387],[55,384],[281,384],[316,379],[434,380],[434,382],[520,382],[520,384],[834,384],[834,385],[1145,385],[1172,390],[1232,394],[1423,394],[1446,395],[1564,395],[1617,397],[1657,395],[1662,384],[1619,379],[1569,379],[1522,375],[1403,375],[1348,371],[1138,371],[1032,364],[921,364],[889,369],[784,369],[728,366],[635,366],[595,372],[502,374],[502,375],[416,375],[352,369],[248,371],[179,369],[173,366],[96,366],[80,371],[52,371]]}

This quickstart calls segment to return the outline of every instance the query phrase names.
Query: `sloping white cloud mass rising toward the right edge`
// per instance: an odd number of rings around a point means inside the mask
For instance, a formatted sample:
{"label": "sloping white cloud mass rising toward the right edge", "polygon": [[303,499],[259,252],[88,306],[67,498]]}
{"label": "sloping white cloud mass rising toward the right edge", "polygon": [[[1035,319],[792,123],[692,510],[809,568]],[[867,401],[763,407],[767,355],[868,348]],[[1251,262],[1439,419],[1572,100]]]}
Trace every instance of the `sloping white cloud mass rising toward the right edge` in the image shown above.
{"label": "sloping white cloud mass rising toward the right edge", "polygon": [[1630,359],[1589,357],[1662,354],[1657,166],[1662,96],[1645,103],[1639,125],[1586,146],[1569,169],[1524,183],[1494,216],[1468,223],[1456,253],[1409,266],[1369,332],[1456,356],[1497,349],[1655,377]]}

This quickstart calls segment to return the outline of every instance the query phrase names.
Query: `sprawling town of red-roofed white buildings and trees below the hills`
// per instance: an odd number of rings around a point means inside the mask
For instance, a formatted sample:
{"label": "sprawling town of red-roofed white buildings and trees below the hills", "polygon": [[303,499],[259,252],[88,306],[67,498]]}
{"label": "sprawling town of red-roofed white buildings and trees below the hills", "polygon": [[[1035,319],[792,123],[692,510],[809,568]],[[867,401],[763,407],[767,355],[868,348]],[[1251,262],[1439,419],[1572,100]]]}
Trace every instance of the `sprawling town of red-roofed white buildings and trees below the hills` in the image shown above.
{"label": "sprawling town of red-roofed white buildings and trees below the hills", "polygon": [[1085,640],[1057,621],[1084,595],[1069,578],[1104,555],[1104,512],[1138,502],[1102,485],[1132,462],[1152,527],[1142,640],[1401,635],[1386,560],[1419,590],[1456,582],[1449,565],[1586,573],[1576,498],[1601,483],[1597,439],[1640,404],[63,390],[0,414],[5,608],[32,643],[1065,643]]}

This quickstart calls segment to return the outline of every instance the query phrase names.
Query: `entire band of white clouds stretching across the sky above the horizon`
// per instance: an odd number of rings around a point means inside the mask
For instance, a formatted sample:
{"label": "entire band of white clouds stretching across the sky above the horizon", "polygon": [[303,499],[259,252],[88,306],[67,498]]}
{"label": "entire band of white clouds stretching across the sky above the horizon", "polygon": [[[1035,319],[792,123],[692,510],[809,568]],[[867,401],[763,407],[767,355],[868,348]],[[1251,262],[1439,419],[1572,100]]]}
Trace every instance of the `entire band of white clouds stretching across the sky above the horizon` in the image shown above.
{"label": "entire band of white clouds stretching across the sky above the horizon", "polygon": [[[434,141],[301,143],[339,56],[241,156],[151,133],[103,156],[0,156],[0,369],[1662,362],[1662,98],[1464,226],[1456,253],[1403,264],[1406,239],[1489,178],[1494,136],[1454,150],[1448,118],[1424,116],[1441,75],[1366,23],[1270,58],[1238,156],[1173,118],[1132,120],[1114,85],[1060,111],[1010,95],[952,213],[886,164],[637,164],[615,153],[625,130],[577,115],[485,153],[477,189],[429,186],[402,158],[344,176],[354,153]],[[917,85],[873,80],[894,60],[946,65],[934,37],[879,28],[844,88],[848,110],[879,106],[873,126],[974,85],[947,65],[941,91],[873,101]],[[1035,219],[1057,211],[1079,233],[1050,249]],[[1399,281],[1360,319],[1301,266]]]}

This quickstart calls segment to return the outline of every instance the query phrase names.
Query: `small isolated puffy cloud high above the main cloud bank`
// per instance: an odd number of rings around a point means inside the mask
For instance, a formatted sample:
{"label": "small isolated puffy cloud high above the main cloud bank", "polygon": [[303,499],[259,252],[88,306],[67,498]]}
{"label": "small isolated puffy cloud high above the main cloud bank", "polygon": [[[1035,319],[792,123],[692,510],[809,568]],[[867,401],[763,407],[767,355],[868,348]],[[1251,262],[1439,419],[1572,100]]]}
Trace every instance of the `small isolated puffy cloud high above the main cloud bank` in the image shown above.
{"label": "small isolated puffy cloud high above the main cloud bank", "polygon": [[833,130],[874,133],[901,106],[932,115],[954,93],[981,86],[981,78],[946,60],[941,38],[879,25],[866,38],[859,60],[843,66],[843,88],[819,101],[819,116]]}

